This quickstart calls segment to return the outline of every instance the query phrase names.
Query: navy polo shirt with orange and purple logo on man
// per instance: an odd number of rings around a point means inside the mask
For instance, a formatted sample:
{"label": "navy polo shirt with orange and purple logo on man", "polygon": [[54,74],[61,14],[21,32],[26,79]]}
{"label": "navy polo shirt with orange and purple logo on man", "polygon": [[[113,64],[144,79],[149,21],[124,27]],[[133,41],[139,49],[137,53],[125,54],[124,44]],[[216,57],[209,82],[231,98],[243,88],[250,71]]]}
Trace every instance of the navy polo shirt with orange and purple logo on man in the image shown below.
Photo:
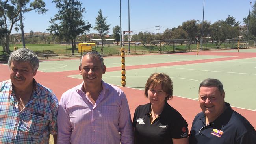
{"label": "navy polo shirt with orange and purple logo on man", "polygon": [[254,127],[241,114],[227,109],[206,125],[205,114],[197,114],[192,123],[189,144],[256,144]]}

